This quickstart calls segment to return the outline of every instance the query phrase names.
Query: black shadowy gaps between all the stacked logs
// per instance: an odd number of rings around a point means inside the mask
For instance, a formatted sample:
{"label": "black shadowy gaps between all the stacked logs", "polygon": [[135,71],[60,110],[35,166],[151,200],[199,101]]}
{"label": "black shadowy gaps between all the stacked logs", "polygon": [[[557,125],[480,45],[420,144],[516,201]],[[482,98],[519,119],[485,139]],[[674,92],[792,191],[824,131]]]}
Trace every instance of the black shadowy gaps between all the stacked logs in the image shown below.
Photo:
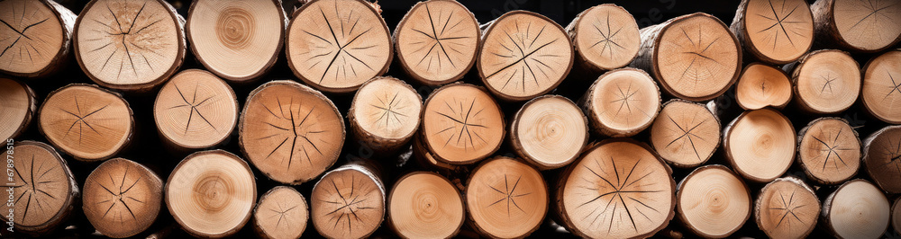
{"label": "black shadowy gaps between all the stacked logs", "polygon": [[[687,0],[608,0],[608,1],[597,1],[597,0],[458,0],[461,4],[466,5],[470,11],[475,13],[478,22],[485,23],[489,22],[496,17],[500,16],[503,13],[513,11],[513,10],[527,10],[536,13],[542,13],[543,15],[548,16],[555,22],[559,23],[562,26],[566,26],[570,21],[581,11],[594,6],[596,4],[618,4],[623,6],[626,10],[633,14],[635,20],[638,22],[640,27],[645,27],[651,24],[656,24],[660,22],[665,22],[670,18],[677,17],[679,15],[687,14],[687,13],[696,13],[696,12],[704,12],[711,13],[714,16],[720,18],[725,24],[730,24],[733,20],[733,16],[735,13],[735,9],[737,8],[739,1],[736,0],[728,0],[728,1],[687,1]],[[60,4],[68,7],[69,10],[72,10],[74,13],[79,13],[81,9],[87,4],[86,0],[59,0]],[[169,3],[173,4],[177,8],[177,12],[182,16],[187,17],[187,9],[190,6],[191,1],[187,0],[168,0]],[[296,0],[287,0],[284,1],[283,5],[287,11],[287,13],[291,13],[291,11],[299,6],[296,4]],[[381,9],[383,10],[382,16],[385,18],[387,22],[387,26],[391,31],[394,31],[397,22],[400,22],[401,18],[403,18],[404,14],[416,3],[417,0],[383,0],[378,4],[381,5]],[[808,0],[808,2],[812,2],[812,0]],[[290,15],[290,14],[289,14]],[[855,54],[854,58],[856,58],[860,66],[863,66],[869,58],[877,56],[876,54],[870,55],[861,55]],[[247,95],[255,89],[259,84],[268,82],[270,80],[275,79],[295,79],[296,77],[292,74],[291,70],[288,68],[284,52],[280,53],[278,56],[278,62],[276,66],[273,67],[273,70],[268,74],[264,75],[260,78],[259,81],[247,84],[247,85],[235,85],[232,84],[232,88],[235,93],[238,95],[238,101],[243,107],[244,101]],[[400,70],[399,66],[396,65],[397,61],[390,67],[389,71],[386,75],[394,75],[401,79],[408,79],[407,76]],[[747,64],[749,62],[745,62]],[[190,50],[187,51],[187,58],[185,64],[181,66],[181,69],[189,69],[189,68],[203,68],[202,65],[198,64],[196,58],[192,55]],[[475,73],[475,68],[466,75],[462,81],[471,83],[471,84],[482,84],[481,80],[478,77],[478,74]],[[574,75],[571,74],[569,77],[564,80],[562,84],[560,84],[560,88],[556,89],[555,94],[560,94],[563,96],[567,96],[570,99],[578,100],[578,98],[585,92],[587,89],[587,85],[590,84],[597,75]],[[60,73],[56,75],[50,75],[47,79],[38,79],[38,80],[26,80],[27,84],[29,84],[36,92],[39,99],[39,102],[42,102],[43,98],[46,97],[48,93],[51,91],[58,89],[59,87],[65,86],[66,84],[71,83],[86,83],[93,84],[89,78],[81,71],[75,62],[74,58],[72,58],[68,62],[68,66],[66,66]],[[410,84],[414,85],[421,94],[423,94],[423,99],[428,96],[428,93],[435,88],[429,86],[423,86],[415,84],[414,81],[408,81]],[[342,114],[346,114],[348,108],[350,108],[350,100],[352,95],[350,94],[327,94],[329,98],[338,106],[339,110]],[[736,103],[733,102],[734,93],[732,90],[725,93],[724,96],[720,97],[716,101],[719,103],[718,109],[721,111],[720,120],[722,124],[726,124],[729,121],[733,120],[738,114],[742,112],[742,109],[738,107]],[[120,155],[116,155],[119,157],[127,158],[133,161],[136,161],[141,164],[145,164],[150,167],[154,172],[158,173],[159,176],[165,181],[168,178],[168,174],[175,167],[175,165],[180,162],[186,155],[169,152],[164,150],[164,147],[159,142],[159,136],[156,132],[156,126],[153,122],[152,116],[152,104],[156,97],[155,92],[144,95],[135,95],[135,94],[124,94],[124,98],[131,104],[132,110],[134,111],[134,118],[136,120],[136,135],[134,140],[132,141],[132,145],[123,151]],[[669,100],[669,98],[664,98],[664,102]],[[505,111],[505,115],[509,118],[512,116],[515,111],[517,111],[522,106],[522,103],[502,103],[502,109]],[[867,137],[870,133],[874,132],[878,128],[885,127],[887,124],[876,120],[875,118],[870,117],[866,111],[862,110],[862,106],[860,102],[851,107],[851,110],[842,112],[840,114],[834,115],[834,117],[844,118],[851,122],[851,126],[855,127],[860,133],[861,137]],[[786,110],[783,111],[789,119],[792,120],[792,123],[796,130],[805,127],[805,125],[810,121],[814,120],[819,116],[810,116],[803,115],[798,113],[798,111],[793,108],[793,106],[789,105]],[[345,120],[347,121],[347,120]],[[32,121],[32,127],[28,128],[22,136],[16,138],[16,141],[21,140],[37,140],[41,142],[48,142],[46,138],[41,136],[40,132],[37,129],[36,123]],[[648,142],[648,130],[642,132],[633,138]],[[232,152],[236,155],[241,154],[241,149],[237,144],[237,130],[232,133],[232,136],[226,140],[226,143],[223,146],[218,146],[217,148],[221,148]],[[596,141],[603,139],[602,137],[592,136],[590,140]],[[355,143],[356,139],[354,139],[350,134],[348,135],[348,140],[344,145],[344,148],[341,152],[341,157],[338,162],[335,163],[335,166],[345,164],[349,160],[356,160],[359,158],[369,158],[378,162],[381,166],[381,174],[382,178],[385,181],[387,189],[390,190],[393,185],[393,181],[399,178],[404,173],[416,170],[416,166],[412,164],[404,164],[404,157],[400,156],[400,154],[395,155],[373,155],[372,151],[369,150],[366,146],[360,146]],[[496,155],[509,155],[513,152],[509,146],[505,143],[505,146],[501,148],[500,151],[497,152]],[[400,152],[403,153],[403,152]],[[73,173],[75,173],[76,179],[78,181],[79,186],[84,185],[84,181],[89,173],[93,171],[94,168],[100,163],[92,163],[86,164],[81,163],[76,160],[71,159],[68,156],[65,156],[68,160],[69,166],[72,168]],[[722,156],[722,149],[720,149],[707,164],[725,164],[728,165],[727,162],[724,161]],[[251,167],[253,168],[253,167]],[[257,188],[258,188],[258,196],[265,193],[267,190],[271,189],[274,186],[279,185],[276,181],[269,180],[265,175],[259,173],[256,168],[253,168],[253,171],[257,178]],[[545,179],[551,183],[555,181],[556,175],[559,173],[558,170],[546,171],[542,172],[544,174]],[[690,173],[690,170],[684,169],[676,169],[674,168],[673,176],[675,180],[681,181],[687,173]],[[793,165],[786,175],[792,175],[799,178],[804,179],[805,175],[803,171],[797,167],[797,165]],[[451,180],[465,181],[466,175],[456,175],[451,176]],[[866,173],[860,172],[858,177],[865,178],[869,180],[869,177]],[[807,181],[812,186],[813,182]],[[310,191],[312,190],[314,185],[314,181],[306,182],[302,185],[296,186],[295,188],[299,190],[305,197],[309,198]],[[760,191],[760,188],[763,184],[755,184],[750,183],[751,187],[751,196],[752,198],[756,198],[757,193]],[[825,199],[826,195],[831,193],[834,190],[834,187],[815,187],[817,190],[817,195],[820,199]],[[896,196],[888,195],[889,199],[894,199]],[[99,235],[94,234],[94,229],[87,222],[86,218],[80,212],[80,206],[74,210],[74,216],[67,224],[68,228],[65,230],[59,230],[52,237],[96,237]],[[552,212],[549,211],[549,216],[545,223],[542,224],[541,228],[535,233],[532,234],[534,237],[571,237],[565,232],[565,230],[560,229],[559,226],[555,226],[551,221]],[[241,229],[241,231],[234,235],[237,238],[246,238],[250,236],[254,236],[252,231],[252,226],[250,226],[251,222],[248,222],[247,226]],[[693,237],[690,232],[686,231],[685,228],[680,226],[680,222],[678,218],[674,219],[670,222],[670,226],[661,232],[660,235],[656,235],[655,237],[663,237],[669,235],[685,235],[687,237]],[[168,235],[176,238],[186,237],[188,236],[185,232],[183,232],[177,223],[173,220],[171,215],[168,214],[168,209],[162,208],[160,210],[159,217],[157,218],[156,223],[150,227],[146,232],[138,235],[140,237],[144,237],[150,234],[159,234],[159,235]],[[18,235],[16,235],[18,236]],[[461,237],[474,237],[478,236],[475,234],[468,226],[464,226],[462,228],[460,235]],[[735,233],[733,237],[766,237],[760,230],[757,228],[753,216],[745,223],[740,231]],[[815,229],[814,233],[810,235],[811,237],[831,237],[828,235],[823,229],[822,226],[818,226]],[[892,232],[891,228],[889,228],[886,237],[897,237],[895,233]],[[308,223],[306,226],[304,237],[318,237],[318,234],[315,231],[312,222]],[[384,224],[379,227],[378,231],[373,235],[373,237],[396,237],[396,235]]]}

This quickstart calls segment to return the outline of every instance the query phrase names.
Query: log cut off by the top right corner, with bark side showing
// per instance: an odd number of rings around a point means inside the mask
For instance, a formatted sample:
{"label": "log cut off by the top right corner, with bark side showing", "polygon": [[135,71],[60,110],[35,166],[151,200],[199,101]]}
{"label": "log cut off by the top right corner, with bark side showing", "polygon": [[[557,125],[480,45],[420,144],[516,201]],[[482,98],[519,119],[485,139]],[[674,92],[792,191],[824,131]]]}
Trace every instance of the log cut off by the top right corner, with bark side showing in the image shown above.
{"label": "log cut off by the top right corner, with bark side showing", "polygon": [[869,2],[817,0],[810,5],[818,43],[858,52],[877,52],[901,40],[901,5],[894,0]]}

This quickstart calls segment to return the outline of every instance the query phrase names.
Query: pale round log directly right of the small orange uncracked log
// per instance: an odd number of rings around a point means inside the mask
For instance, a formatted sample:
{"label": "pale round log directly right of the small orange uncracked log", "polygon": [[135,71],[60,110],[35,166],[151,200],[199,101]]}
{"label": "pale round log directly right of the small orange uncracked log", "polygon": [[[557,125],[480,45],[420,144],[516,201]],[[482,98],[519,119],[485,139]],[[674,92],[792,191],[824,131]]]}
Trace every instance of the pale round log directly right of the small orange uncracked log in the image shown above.
{"label": "pale round log directly right of the small orange uncracked log", "polygon": [[821,49],[785,66],[795,102],[803,111],[833,114],[851,108],[860,95],[860,65],[847,52]]}

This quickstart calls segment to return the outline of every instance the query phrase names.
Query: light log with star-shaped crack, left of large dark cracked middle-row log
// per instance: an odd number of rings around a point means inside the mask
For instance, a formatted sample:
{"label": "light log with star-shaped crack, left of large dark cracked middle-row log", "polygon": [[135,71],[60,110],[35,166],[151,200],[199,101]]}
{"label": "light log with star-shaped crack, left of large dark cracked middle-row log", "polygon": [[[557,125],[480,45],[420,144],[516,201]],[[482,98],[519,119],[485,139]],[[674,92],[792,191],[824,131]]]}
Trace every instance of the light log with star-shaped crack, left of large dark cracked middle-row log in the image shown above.
{"label": "light log with star-shaped crack, left of large dark cracked middle-row log", "polygon": [[168,146],[182,151],[214,147],[238,123],[237,96],[210,72],[184,70],[157,93],[153,121]]}

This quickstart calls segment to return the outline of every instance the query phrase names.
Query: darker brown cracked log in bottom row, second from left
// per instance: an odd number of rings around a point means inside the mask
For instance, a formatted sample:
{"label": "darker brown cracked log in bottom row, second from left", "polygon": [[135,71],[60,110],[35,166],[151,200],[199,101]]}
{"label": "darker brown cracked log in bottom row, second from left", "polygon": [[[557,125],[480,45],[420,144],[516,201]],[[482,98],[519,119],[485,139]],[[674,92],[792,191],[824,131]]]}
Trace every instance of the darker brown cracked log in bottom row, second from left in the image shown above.
{"label": "darker brown cracked log in bottom row, second from left", "polygon": [[163,181],[141,164],[114,158],[85,181],[82,209],[100,234],[125,238],[147,230],[159,215]]}

